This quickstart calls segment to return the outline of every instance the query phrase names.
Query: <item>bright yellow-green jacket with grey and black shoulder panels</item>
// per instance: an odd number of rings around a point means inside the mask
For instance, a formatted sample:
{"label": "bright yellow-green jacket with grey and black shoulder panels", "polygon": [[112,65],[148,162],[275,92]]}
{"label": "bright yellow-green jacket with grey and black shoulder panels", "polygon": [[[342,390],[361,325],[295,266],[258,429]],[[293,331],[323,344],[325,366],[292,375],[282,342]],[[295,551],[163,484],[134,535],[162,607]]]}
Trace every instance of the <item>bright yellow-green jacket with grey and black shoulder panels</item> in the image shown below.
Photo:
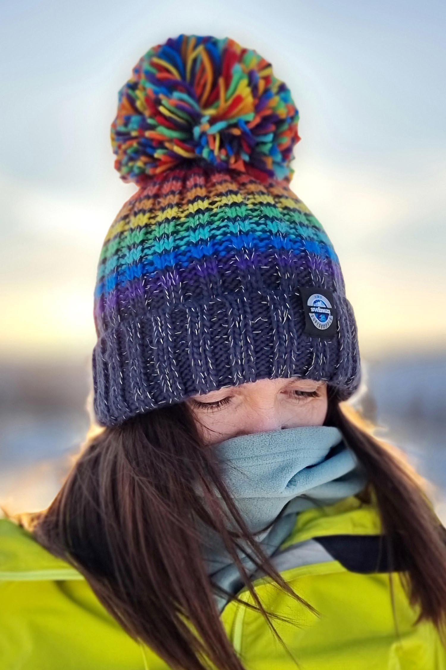
{"label": "bright yellow-green jacket with grey and black shoulder panels", "polygon": [[[255,576],[265,608],[300,623],[272,620],[301,670],[446,670],[437,629],[415,625],[418,608],[409,604],[399,573],[388,572],[381,533],[374,496],[298,514],[273,560],[320,616]],[[246,588],[239,596],[252,602]],[[231,600],[221,619],[247,670],[296,668],[261,614]],[[0,519],[0,670],[167,667],[128,636],[76,569],[11,519]]]}

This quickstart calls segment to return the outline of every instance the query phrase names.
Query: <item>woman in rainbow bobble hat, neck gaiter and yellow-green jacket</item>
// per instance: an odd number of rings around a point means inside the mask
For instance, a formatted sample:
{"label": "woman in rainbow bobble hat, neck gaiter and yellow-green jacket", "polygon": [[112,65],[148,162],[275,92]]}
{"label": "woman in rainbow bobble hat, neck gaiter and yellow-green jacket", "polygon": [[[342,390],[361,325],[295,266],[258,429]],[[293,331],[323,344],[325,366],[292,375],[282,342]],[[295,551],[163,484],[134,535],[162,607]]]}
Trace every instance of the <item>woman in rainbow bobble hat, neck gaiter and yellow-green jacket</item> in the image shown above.
{"label": "woman in rainbow bobble hat, neck gaiter and yellow-green jacket", "polygon": [[290,190],[298,119],[229,38],[167,40],[121,88],[98,426],[45,511],[0,521],[2,670],[446,668],[444,529],[345,403],[357,328]]}

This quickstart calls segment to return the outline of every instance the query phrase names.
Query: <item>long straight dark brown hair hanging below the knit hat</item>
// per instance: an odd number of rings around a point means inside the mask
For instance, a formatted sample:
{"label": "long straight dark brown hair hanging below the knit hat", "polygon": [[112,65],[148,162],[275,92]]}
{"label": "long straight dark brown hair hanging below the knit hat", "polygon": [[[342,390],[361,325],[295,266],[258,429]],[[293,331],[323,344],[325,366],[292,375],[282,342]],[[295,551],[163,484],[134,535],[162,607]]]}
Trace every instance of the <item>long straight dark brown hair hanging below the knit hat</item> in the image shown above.
{"label": "long straight dark brown hair hanging below the knit hat", "polygon": [[[426,482],[403,452],[375,438],[372,425],[340,403],[330,386],[324,425],[342,431],[366,468],[369,483],[360,495],[367,496],[370,487],[376,493],[388,555],[403,555],[409,565],[399,576],[411,604],[421,608],[418,620],[431,620],[443,636],[446,547]],[[265,574],[319,614],[276,572],[250,535],[213,453],[202,444],[188,403],[136,415],[90,435],[51,505],[27,520],[37,541],[85,576],[133,639],[181,670],[204,670],[206,659],[221,670],[244,668],[219,617],[195,515],[221,534],[256,603],[244,606],[265,616],[282,645],[271,618],[293,621],[263,608],[237,555],[239,537],[247,540],[253,562]],[[193,482],[201,484],[203,496],[197,496]],[[239,533],[227,530],[228,519]]]}

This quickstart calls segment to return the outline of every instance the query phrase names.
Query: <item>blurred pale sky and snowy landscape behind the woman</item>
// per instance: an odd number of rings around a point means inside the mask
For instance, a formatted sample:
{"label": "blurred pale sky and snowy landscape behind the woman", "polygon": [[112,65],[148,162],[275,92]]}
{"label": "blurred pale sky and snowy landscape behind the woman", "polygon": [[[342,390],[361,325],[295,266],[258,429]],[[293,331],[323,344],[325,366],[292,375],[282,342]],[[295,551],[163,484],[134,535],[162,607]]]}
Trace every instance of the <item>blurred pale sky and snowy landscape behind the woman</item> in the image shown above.
{"label": "blurred pale sky and snowy landscape behind the woman", "polygon": [[47,507],[90,425],[93,291],[136,187],[114,171],[118,89],[150,47],[231,37],[300,111],[293,190],[354,307],[351,403],[436,487],[446,522],[446,5],[426,0],[3,0],[0,505]]}

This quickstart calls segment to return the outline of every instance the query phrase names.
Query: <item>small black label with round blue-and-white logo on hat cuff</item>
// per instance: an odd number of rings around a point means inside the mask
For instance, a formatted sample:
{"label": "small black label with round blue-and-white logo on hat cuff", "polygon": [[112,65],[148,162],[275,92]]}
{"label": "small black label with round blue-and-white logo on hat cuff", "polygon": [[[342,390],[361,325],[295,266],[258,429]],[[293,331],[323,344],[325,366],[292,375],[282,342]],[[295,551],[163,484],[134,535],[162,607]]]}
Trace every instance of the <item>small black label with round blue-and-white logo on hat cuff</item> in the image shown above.
{"label": "small black label with round blue-and-white logo on hat cuff", "polygon": [[299,290],[304,304],[304,332],[323,338],[336,335],[338,318],[332,291],[320,286],[300,286]]}

